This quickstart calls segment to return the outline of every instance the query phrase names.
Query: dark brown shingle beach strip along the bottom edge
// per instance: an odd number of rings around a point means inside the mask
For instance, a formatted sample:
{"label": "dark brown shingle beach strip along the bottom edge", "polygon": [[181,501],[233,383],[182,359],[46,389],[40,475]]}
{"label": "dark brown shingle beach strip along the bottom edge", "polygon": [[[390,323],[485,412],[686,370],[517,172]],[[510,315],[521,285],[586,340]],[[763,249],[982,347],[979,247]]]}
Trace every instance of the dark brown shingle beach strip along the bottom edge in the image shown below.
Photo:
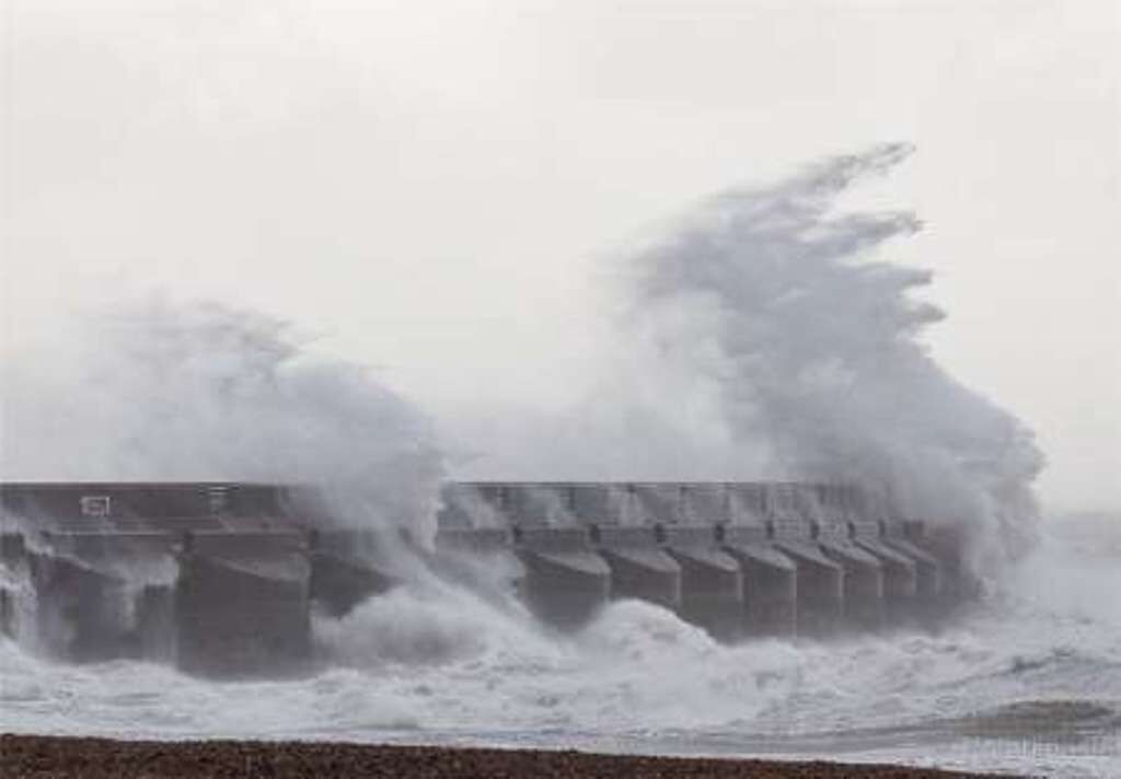
{"label": "dark brown shingle beach strip along the bottom edge", "polygon": [[979,777],[898,766],[595,754],[576,751],[321,742],[113,741],[0,735],[3,779],[946,779]]}

